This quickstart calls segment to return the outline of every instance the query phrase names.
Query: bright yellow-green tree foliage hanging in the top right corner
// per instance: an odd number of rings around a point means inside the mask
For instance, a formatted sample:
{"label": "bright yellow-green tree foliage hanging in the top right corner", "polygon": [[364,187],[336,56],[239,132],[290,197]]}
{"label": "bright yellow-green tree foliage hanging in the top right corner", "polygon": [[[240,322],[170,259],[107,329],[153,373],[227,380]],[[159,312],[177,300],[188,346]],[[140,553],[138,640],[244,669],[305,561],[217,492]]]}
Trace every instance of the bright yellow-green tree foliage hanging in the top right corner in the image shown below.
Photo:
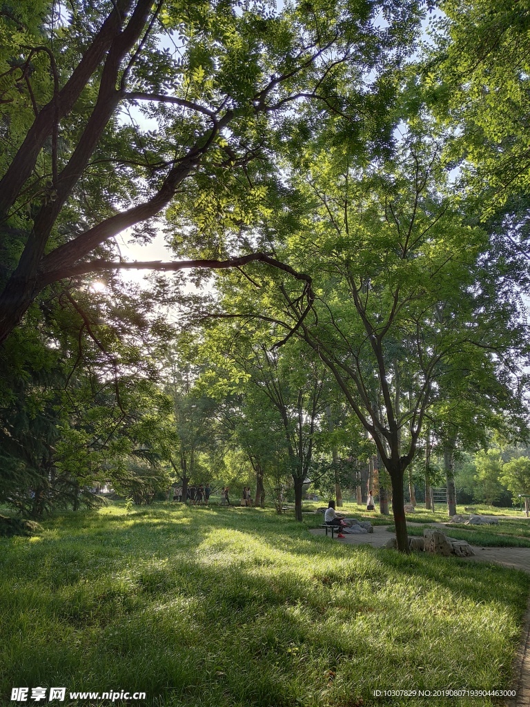
{"label": "bright yellow-green tree foliage hanging in the top right corner", "polygon": [[441,7],[436,45],[420,69],[423,98],[454,130],[448,157],[461,163],[484,216],[527,192],[529,4],[444,0]]}

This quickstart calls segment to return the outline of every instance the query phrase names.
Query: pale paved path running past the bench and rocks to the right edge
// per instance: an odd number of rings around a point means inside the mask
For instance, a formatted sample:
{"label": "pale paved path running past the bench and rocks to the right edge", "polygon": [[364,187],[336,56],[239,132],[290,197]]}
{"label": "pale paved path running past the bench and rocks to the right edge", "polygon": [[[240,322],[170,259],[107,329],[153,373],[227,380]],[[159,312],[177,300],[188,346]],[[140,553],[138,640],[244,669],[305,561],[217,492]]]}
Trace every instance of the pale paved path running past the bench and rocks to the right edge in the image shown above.
{"label": "pale paved path running past the bench and rocks to the right edge", "polygon": [[[426,525],[425,523],[407,523],[407,525]],[[429,523],[444,528],[444,523]],[[324,528],[311,530],[315,535],[323,535]],[[447,528],[447,534],[451,532]],[[331,536],[328,536],[331,542]],[[375,525],[374,532],[367,535],[346,535],[344,539],[335,538],[333,542],[343,542],[347,545],[371,545],[384,547],[394,533],[388,532],[387,525]],[[530,573],[530,548],[529,547],[481,547],[473,545],[475,556],[461,559],[471,562],[496,562],[505,567],[513,567]],[[521,644],[514,658],[512,689],[517,691],[517,697],[507,701],[506,707],[530,707],[530,597],[526,607],[526,616],[522,630]]]}

